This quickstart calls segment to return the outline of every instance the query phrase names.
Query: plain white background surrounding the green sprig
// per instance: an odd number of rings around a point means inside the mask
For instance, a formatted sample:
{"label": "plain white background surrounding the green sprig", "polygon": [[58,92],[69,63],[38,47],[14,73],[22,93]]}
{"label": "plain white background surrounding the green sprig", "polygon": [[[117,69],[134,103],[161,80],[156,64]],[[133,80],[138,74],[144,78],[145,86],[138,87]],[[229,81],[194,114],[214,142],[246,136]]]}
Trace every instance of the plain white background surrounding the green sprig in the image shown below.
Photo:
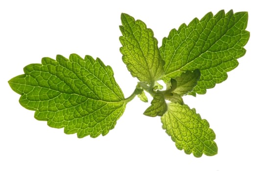
{"label": "plain white background surrounding the green sprig", "polygon": [[[253,0],[1,0],[0,171],[256,171],[256,11]],[[106,136],[78,139],[34,119],[7,81],[42,57],[99,57],[128,97],[137,84],[119,52],[120,14],[151,28],[162,44],[172,28],[212,11],[248,11],[247,53],[222,84],[185,97],[216,133],[218,154],[195,158],[177,150],[150,105],[134,99]]]}

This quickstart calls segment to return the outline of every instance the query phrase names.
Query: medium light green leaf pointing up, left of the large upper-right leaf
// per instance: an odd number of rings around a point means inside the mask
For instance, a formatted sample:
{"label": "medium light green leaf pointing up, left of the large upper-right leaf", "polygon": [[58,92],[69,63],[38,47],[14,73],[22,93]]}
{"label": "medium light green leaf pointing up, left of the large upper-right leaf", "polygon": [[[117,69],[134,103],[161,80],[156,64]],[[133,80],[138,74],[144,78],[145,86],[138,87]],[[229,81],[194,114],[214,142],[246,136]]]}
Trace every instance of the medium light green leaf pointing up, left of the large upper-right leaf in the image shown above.
{"label": "medium light green leaf pointing up, left of the large upper-right leaf", "polygon": [[133,77],[141,82],[154,83],[163,75],[163,60],[153,31],[140,20],[121,14],[123,36],[119,38],[123,62]]}

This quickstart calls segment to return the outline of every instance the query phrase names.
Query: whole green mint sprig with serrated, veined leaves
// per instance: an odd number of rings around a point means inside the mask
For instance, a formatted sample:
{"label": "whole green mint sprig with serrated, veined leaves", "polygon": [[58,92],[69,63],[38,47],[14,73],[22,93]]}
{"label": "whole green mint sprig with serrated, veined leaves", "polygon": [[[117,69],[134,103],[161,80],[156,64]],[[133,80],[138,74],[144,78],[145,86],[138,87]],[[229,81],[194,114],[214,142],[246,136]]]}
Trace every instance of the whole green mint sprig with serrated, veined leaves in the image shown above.
{"label": "whole green mint sprig with serrated, veined leaves", "polygon": [[56,60],[43,58],[42,64],[29,64],[24,74],[9,80],[11,88],[21,94],[20,104],[35,110],[35,118],[50,127],[64,128],[79,138],[97,137],[115,127],[126,104],[136,96],[147,102],[148,92],[153,100],[144,115],[160,116],[163,129],[179,150],[195,157],[217,154],[209,123],[182,97],[205,94],[238,65],[250,37],[245,30],[247,12],[221,10],[195,18],[172,29],[160,48],[144,22],[127,14],[121,14],[121,21],[122,60],[139,80],[129,97],[124,97],[110,66],[98,58],[71,54],[69,59],[61,55]]}

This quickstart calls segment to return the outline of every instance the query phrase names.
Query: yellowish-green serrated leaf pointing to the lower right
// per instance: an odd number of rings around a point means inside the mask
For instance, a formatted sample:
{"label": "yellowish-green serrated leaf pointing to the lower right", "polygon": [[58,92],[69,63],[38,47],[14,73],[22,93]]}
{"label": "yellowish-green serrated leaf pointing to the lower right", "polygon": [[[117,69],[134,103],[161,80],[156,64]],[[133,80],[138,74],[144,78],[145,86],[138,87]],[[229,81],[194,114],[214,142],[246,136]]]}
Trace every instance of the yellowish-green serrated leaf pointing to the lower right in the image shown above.
{"label": "yellowish-green serrated leaf pointing to the lower right", "polygon": [[213,141],[215,133],[195,109],[170,103],[161,121],[163,129],[166,129],[179,150],[184,149],[186,154],[193,153],[195,157],[201,157],[203,153],[209,156],[217,154],[218,148]]}

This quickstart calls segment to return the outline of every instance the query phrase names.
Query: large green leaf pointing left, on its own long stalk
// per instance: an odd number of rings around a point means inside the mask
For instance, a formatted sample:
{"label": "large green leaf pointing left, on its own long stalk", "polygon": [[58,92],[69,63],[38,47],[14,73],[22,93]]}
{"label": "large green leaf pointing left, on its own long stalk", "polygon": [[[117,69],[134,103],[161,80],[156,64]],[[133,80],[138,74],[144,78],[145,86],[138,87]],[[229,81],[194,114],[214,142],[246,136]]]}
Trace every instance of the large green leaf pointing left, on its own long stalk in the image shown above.
{"label": "large green leaf pointing left, on its own long stalk", "polygon": [[113,75],[100,59],[57,55],[56,61],[43,58],[42,64],[25,66],[9,85],[22,95],[23,107],[35,110],[36,119],[79,138],[97,137],[115,127],[126,106]]}

